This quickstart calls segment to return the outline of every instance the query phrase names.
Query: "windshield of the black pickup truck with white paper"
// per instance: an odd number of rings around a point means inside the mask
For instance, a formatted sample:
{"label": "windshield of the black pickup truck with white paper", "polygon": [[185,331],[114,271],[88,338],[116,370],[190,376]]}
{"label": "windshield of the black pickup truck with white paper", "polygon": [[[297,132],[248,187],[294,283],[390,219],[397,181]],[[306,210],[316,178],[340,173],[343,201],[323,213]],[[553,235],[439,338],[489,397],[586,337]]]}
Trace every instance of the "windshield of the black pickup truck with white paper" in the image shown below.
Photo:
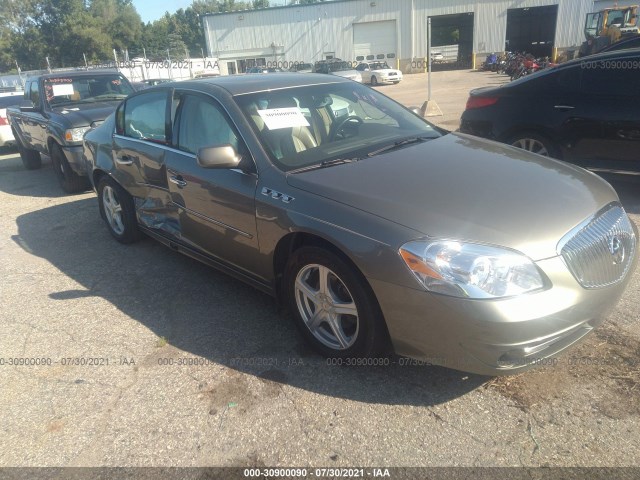
{"label": "windshield of the black pickup truck with white paper", "polygon": [[51,107],[67,107],[100,100],[122,100],[133,93],[133,88],[122,75],[113,73],[96,76],[46,78],[44,91]]}

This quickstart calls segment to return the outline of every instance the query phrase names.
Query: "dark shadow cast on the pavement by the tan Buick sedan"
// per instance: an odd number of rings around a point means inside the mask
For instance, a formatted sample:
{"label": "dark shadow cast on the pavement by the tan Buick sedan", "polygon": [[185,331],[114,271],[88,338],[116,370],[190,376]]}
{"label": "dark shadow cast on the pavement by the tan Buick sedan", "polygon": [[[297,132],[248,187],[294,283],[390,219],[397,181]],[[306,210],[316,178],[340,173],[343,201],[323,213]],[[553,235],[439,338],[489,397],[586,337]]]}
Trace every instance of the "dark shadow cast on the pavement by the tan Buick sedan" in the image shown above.
{"label": "dark shadow cast on the pavement by the tan Buick sedan", "polygon": [[117,243],[99,218],[95,198],[24,214],[17,224],[13,240],[21,248],[82,285],[54,292],[52,300],[106,299],[168,341],[157,349],[159,357],[187,352],[265,380],[365,403],[435,405],[487,380],[400,365],[398,358],[385,367],[330,366],[307,349],[271,297],[151,239]]}

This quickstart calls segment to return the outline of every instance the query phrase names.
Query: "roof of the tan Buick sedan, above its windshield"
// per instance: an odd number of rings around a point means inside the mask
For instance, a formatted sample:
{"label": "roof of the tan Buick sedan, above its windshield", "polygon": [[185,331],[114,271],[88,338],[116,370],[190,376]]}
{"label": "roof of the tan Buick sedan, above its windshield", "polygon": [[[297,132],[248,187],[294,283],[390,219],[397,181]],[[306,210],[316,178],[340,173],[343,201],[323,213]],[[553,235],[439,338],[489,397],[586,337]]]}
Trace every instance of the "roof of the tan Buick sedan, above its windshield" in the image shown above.
{"label": "roof of the tan Buick sedan, above its windshield", "polygon": [[[319,73],[277,72],[270,75],[227,75],[198,80],[175,82],[176,86],[205,90],[207,85],[215,85],[227,90],[231,95],[245,95],[248,93],[264,92],[265,90],[279,90],[292,87],[306,87],[310,85],[326,85],[329,83],[350,82],[346,78]],[[163,87],[170,87],[174,83],[164,83]]]}

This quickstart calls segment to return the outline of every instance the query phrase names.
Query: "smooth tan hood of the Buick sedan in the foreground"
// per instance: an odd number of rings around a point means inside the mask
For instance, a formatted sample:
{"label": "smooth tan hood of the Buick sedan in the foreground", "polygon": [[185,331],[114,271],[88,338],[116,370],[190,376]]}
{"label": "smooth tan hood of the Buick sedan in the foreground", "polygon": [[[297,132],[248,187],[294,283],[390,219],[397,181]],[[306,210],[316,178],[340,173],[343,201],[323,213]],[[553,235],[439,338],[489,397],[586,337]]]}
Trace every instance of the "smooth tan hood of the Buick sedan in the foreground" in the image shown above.
{"label": "smooth tan hood of the Buick sedan in the foreground", "polygon": [[569,230],[618,198],[579,167],[457,133],[287,181],[416,237],[499,245],[534,260],[557,256]]}

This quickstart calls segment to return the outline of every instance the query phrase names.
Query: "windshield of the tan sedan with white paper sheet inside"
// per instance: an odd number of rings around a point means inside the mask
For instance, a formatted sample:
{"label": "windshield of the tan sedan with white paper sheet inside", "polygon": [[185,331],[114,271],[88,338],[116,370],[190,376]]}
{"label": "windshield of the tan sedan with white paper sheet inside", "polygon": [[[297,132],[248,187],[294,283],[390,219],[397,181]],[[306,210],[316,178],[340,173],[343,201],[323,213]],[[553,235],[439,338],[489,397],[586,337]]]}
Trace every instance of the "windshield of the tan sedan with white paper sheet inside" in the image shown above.
{"label": "windshield of the tan sedan with white paper sheet inside", "polygon": [[364,159],[409,139],[441,136],[422,118],[356,82],[243,94],[235,100],[283,171]]}

